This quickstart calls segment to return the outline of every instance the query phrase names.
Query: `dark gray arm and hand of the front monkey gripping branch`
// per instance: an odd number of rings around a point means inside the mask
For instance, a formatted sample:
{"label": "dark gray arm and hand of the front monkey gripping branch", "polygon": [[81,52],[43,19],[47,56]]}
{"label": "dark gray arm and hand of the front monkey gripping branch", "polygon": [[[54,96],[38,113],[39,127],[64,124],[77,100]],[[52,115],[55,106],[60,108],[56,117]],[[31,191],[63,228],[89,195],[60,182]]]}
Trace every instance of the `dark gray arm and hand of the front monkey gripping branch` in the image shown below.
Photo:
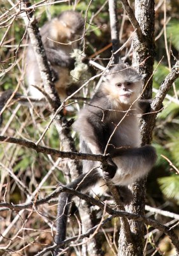
{"label": "dark gray arm and hand of the front monkey gripping branch", "polygon": [[[90,102],[94,106],[87,106],[80,111],[78,119],[73,124],[75,131],[80,134],[80,140],[82,141],[81,150],[84,153],[92,154],[104,154],[104,149],[108,141],[108,129],[104,123],[105,112],[103,108],[106,106],[104,97],[103,102],[98,98],[98,101]],[[106,102],[107,103],[107,102]],[[95,107],[99,104],[100,109]],[[103,108],[101,108],[103,106]],[[85,161],[83,169],[85,172],[89,172],[94,167],[91,161]],[[103,175],[106,179],[112,179],[117,171],[117,165],[113,161],[109,161],[108,164],[103,166]]]}

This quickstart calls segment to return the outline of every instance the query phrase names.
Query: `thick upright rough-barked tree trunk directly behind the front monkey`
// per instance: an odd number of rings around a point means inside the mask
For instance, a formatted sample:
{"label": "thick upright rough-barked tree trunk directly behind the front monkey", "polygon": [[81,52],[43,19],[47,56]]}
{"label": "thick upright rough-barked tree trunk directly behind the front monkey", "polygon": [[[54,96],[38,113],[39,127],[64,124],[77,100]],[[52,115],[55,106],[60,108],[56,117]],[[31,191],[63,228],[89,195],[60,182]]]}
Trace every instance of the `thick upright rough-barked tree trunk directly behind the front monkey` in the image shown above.
{"label": "thick upright rough-barked tree trunk directly behind the front monkey", "polygon": [[[141,74],[146,74],[145,85],[147,84],[143,95],[143,99],[150,99],[152,97],[152,72],[154,67],[154,55],[155,55],[155,41],[154,41],[154,0],[136,0],[135,2],[135,16],[138,20],[143,34],[143,42],[137,36],[134,38],[133,47],[133,65]],[[142,63],[142,64],[141,64]],[[150,79],[150,80],[149,80]],[[148,144],[152,140],[152,128],[146,125],[147,116],[141,120],[141,136],[142,145]],[[151,116],[150,116],[151,118]],[[153,116],[155,120],[155,116]],[[155,122],[155,121],[154,121]],[[147,127],[147,129],[143,129]],[[150,135],[150,136],[149,136]],[[126,211],[137,214],[145,214],[145,183],[146,180],[140,180],[131,186],[132,193],[134,194],[134,200],[131,205],[125,207]],[[120,250],[118,255],[120,256],[141,256],[143,255],[144,246],[144,224],[143,222],[130,220],[130,228],[132,233],[132,246],[127,243],[127,239],[124,234],[124,228],[122,226],[120,230]]]}

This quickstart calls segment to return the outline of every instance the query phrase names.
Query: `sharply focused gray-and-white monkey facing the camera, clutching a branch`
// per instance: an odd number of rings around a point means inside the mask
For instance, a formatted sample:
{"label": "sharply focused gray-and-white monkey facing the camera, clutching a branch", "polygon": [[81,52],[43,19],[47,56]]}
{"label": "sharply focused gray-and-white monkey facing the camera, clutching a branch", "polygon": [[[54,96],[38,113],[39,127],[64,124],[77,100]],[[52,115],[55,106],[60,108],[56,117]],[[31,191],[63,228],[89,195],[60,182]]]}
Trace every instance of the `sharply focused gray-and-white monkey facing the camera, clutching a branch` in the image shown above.
{"label": "sharply focused gray-and-white monkey facing the camera, clutching a branch", "polygon": [[[110,154],[112,161],[102,172],[99,162],[83,160],[83,174],[67,185],[82,192],[103,195],[110,179],[118,187],[123,204],[132,200],[128,185],[145,177],[157,159],[151,145],[141,147],[138,115],[150,111],[150,100],[139,100],[143,76],[124,63],[115,65],[89,104],[80,110],[73,129],[80,136],[81,152]],[[68,202],[72,196],[59,196],[55,243],[66,237]],[[55,250],[57,255],[58,249]]]}

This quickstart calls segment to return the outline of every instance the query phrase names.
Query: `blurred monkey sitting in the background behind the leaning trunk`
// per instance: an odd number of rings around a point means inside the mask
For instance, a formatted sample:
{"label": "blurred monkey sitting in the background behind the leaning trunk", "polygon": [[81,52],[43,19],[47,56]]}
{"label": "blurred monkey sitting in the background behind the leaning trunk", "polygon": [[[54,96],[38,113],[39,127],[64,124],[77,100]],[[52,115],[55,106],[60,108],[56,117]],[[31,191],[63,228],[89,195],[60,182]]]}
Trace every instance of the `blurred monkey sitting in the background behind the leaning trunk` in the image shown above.
{"label": "blurred monkey sitting in the background behind the leaning trunk", "polygon": [[[75,59],[71,57],[71,52],[82,42],[79,39],[83,35],[84,26],[85,21],[80,13],[65,11],[40,28],[41,40],[50,63],[55,88],[61,99],[66,98],[68,86],[72,83],[69,72],[75,67]],[[41,87],[42,80],[31,44],[27,47],[26,63],[25,79],[29,93],[36,99],[41,99],[44,97],[43,93],[32,86]]]}

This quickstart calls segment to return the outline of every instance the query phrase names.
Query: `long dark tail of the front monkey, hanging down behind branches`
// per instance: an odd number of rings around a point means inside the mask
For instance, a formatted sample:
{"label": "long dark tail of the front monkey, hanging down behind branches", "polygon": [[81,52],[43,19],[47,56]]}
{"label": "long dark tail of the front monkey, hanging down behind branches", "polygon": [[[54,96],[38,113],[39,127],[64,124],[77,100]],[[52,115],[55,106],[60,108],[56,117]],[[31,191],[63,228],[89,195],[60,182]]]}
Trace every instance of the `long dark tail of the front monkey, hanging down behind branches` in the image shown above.
{"label": "long dark tail of the front monkey, hanging down behind branches", "polygon": [[[97,184],[101,175],[99,172],[94,169],[89,173],[83,173],[80,175],[76,180],[68,184],[68,188],[76,189],[78,191],[85,191],[88,192],[90,187]],[[55,243],[59,244],[66,239],[66,227],[67,227],[67,219],[68,219],[68,212],[69,212],[69,205],[73,195],[69,195],[68,193],[61,193],[59,195],[59,204],[57,209],[57,227],[56,227],[56,236],[55,236]],[[54,250],[54,256],[56,256],[64,246],[58,246]]]}

